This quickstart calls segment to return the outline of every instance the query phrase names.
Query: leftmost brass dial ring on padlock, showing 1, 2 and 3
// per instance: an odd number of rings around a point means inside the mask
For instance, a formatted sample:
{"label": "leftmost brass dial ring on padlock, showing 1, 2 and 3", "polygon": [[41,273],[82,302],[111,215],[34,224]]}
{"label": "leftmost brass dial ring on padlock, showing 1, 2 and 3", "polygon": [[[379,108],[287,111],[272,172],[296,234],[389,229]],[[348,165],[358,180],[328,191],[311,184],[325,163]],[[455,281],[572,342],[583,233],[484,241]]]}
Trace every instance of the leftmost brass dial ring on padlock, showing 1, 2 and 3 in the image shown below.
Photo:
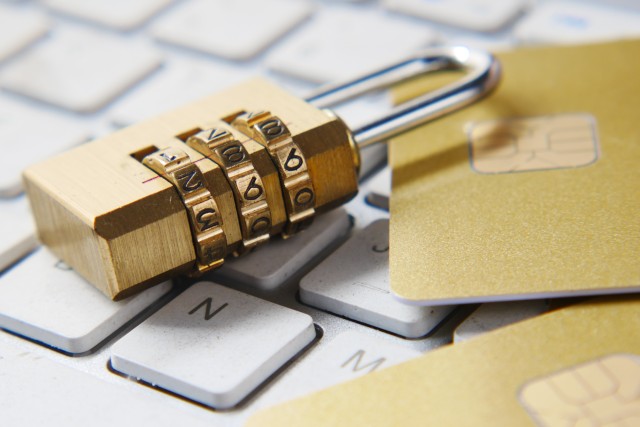
{"label": "leftmost brass dial ring on padlock, showing 1, 2 and 3", "polygon": [[175,148],[156,151],[142,162],[178,191],[189,216],[197,270],[205,272],[222,265],[227,253],[222,218],[198,166],[184,151]]}

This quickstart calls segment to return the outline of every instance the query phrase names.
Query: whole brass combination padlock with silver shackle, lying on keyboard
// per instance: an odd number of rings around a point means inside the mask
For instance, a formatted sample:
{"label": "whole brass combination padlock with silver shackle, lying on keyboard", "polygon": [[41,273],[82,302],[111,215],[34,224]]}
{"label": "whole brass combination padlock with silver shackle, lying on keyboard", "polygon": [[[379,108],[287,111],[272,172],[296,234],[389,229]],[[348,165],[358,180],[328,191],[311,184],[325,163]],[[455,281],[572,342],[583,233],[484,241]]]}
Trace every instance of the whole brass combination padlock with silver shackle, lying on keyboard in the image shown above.
{"label": "whole brass combination padlock with silver shackle, lying on keyboard", "polygon": [[[350,131],[322,108],[416,74],[466,77]],[[24,173],[40,240],[112,299],[218,267],[358,188],[359,146],[466,105],[495,86],[491,55],[430,50],[305,102],[256,79],[115,132]]]}

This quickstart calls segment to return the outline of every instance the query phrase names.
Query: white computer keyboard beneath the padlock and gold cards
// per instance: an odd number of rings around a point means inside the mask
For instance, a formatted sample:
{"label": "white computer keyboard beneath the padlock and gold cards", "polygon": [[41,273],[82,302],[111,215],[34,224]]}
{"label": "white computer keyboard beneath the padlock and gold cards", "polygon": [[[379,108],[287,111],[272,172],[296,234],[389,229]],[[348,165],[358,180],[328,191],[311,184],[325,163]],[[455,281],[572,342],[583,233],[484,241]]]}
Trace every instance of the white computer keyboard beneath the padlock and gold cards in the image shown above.
{"label": "white computer keyboard beneath the padlock and gold cards", "polygon": [[[363,152],[359,195],[300,236],[112,302],[38,245],[28,164],[251,76],[304,97],[427,46],[638,36],[632,0],[0,1],[2,425],[243,425],[562,304],[395,300],[380,145]],[[356,126],[386,102],[338,113]]]}

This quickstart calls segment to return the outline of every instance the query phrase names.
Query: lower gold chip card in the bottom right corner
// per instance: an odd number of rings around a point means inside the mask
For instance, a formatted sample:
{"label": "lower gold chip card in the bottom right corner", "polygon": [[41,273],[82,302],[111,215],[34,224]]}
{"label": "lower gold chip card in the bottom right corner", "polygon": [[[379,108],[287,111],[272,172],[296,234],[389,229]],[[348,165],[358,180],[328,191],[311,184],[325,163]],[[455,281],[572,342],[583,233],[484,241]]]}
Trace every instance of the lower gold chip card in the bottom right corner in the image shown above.
{"label": "lower gold chip card in the bottom right corner", "polygon": [[249,425],[640,425],[640,297],[564,308],[284,403]]}

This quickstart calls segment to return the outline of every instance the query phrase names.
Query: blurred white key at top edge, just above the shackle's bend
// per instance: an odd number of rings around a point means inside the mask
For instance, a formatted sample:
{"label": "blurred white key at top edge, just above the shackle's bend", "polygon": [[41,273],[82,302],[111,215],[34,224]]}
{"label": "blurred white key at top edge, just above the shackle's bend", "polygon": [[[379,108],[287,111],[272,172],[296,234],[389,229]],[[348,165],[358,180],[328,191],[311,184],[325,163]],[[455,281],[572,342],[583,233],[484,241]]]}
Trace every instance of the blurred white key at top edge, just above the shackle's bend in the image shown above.
{"label": "blurred white key at top edge, just above the shackle's bend", "polygon": [[385,0],[391,10],[474,31],[497,31],[513,21],[529,0]]}

